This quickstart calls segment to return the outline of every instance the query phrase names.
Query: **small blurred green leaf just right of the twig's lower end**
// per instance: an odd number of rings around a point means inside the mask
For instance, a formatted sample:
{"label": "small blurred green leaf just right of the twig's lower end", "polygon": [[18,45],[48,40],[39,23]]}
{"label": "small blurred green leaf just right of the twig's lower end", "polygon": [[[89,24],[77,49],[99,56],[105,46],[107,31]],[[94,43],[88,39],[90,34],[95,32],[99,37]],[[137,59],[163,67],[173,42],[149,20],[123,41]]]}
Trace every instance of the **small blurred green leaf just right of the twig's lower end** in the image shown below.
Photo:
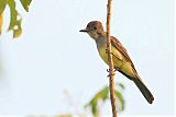
{"label": "small blurred green leaf just right of the twig's lower end", "polygon": [[120,105],[121,105],[121,106],[118,105],[119,110],[124,110],[124,98],[123,98],[122,94],[117,90],[114,91],[114,94],[118,98],[118,102],[120,102]]}

